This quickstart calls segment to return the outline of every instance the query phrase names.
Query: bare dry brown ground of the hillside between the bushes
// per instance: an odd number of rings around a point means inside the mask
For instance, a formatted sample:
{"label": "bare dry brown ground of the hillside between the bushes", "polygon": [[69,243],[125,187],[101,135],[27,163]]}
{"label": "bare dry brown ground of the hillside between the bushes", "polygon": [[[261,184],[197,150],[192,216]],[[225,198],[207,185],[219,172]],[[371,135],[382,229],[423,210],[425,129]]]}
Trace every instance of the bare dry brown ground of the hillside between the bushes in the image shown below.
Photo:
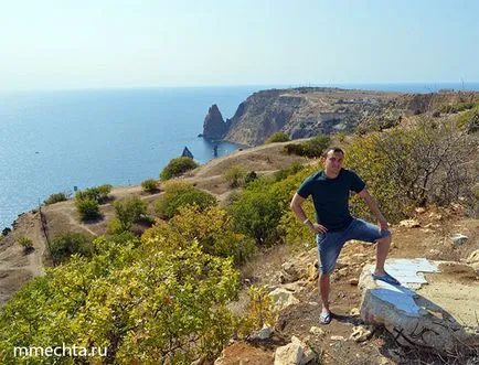
{"label": "bare dry brown ground of the hillside between the bushes", "polygon": [[[406,126],[414,124],[414,117],[403,120]],[[298,142],[298,141],[295,141]],[[336,141],[339,142],[339,141]],[[273,143],[236,151],[230,155],[210,161],[209,163],[188,172],[181,180],[193,183],[196,187],[207,191],[226,204],[230,194],[238,189],[232,189],[223,174],[232,165],[241,165],[246,171],[255,171],[259,175],[270,175],[275,171],[290,167],[292,163],[315,165],[317,159],[288,155],[283,153],[284,146],[291,142]],[[349,138],[341,142],[349,146]],[[477,153],[470,155],[470,161],[477,159]],[[151,203],[164,193],[147,194],[140,186],[114,187],[109,201],[100,206],[102,219],[91,223],[78,221],[73,201],[61,202],[43,206],[42,212],[46,217],[49,236],[54,237],[62,232],[78,232],[89,236],[102,235],[106,232],[107,222],[114,216],[114,202],[126,196],[139,196],[149,204],[149,213],[153,214]],[[417,258],[424,257],[430,260],[454,261],[465,264],[470,254],[479,248],[479,219],[468,217],[460,204],[451,204],[445,207],[429,206],[416,208],[411,218],[414,224],[397,224],[392,227],[393,246],[391,258]],[[147,224],[135,226],[135,232],[141,233],[148,228]],[[454,234],[464,234],[468,240],[457,246],[453,243]],[[34,243],[34,250],[28,255],[15,243],[20,236],[29,237]],[[41,230],[40,215],[38,211],[28,212],[20,216],[12,234],[0,243],[0,305],[11,298],[19,288],[30,278],[42,276],[44,267],[51,262],[46,257],[46,241]],[[268,290],[289,288],[298,302],[279,312],[275,333],[267,340],[236,341],[224,351],[224,356],[217,364],[238,364],[248,358],[249,364],[273,364],[275,351],[289,343],[291,335],[301,340],[309,339],[309,345],[320,356],[321,364],[395,364],[424,361],[432,363],[438,358],[429,359],[421,357],[424,354],[406,350],[395,343],[394,337],[384,329],[369,328],[371,334],[364,341],[349,340],[353,326],[365,326],[359,314],[362,292],[358,287],[359,276],[365,264],[373,262],[374,249],[372,246],[351,243],[341,254],[340,265],[332,277],[333,294],[331,308],[336,319],[329,326],[324,326],[316,334],[311,333],[312,326],[318,326],[320,313],[319,292],[317,289],[317,250],[313,247],[313,237],[301,245],[275,245],[264,247],[246,265],[241,268],[243,287],[237,301],[230,307],[240,315],[245,312],[247,304],[247,290],[255,286],[266,286]],[[290,275],[291,267],[299,272],[294,279]],[[316,269],[315,269],[316,266]],[[312,268],[312,271],[311,271]],[[285,273],[285,271],[288,271]],[[446,305],[449,312],[455,309],[469,311],[464,308],[464,301],[455,297],[455,283],[462,283],[476,298],[477,271],[464,271],[459,267],[451,267],[441,273],[441,290],[444,296],[451,296]],[[468,313],[469,313],[468,312]]]}

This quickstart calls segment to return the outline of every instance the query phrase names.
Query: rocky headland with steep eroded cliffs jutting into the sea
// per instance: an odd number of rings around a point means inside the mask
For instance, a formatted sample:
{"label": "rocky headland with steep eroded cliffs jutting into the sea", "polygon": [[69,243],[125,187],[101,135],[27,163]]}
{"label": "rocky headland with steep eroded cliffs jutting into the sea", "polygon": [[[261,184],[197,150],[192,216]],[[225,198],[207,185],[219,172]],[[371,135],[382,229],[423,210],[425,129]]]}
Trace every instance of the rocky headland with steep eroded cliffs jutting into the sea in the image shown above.
{"label": "rocky headland with steep eroded cliffs jutting into the sea", "polygon": [[478,95],[400,94],[323,87],[270,89],[254,93],[240,104],[232,119],[215,125],[220,126],[217,130],[224,127],[224,140],[257,146],[278,130],[291,139],[320,132],[350,132],[364,121],[394,121],[403,115],[432,111],[448,103],[472,101],[478,99]]}

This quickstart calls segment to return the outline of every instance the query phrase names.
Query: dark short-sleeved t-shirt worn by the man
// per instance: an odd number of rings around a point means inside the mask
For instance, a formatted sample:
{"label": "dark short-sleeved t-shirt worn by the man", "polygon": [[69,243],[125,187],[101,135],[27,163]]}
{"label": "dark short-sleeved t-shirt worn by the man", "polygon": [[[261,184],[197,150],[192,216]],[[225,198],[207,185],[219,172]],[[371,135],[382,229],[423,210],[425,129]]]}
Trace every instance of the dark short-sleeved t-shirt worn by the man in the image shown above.
{"label": "dark short-sleeved t-shirt worn by the man", "polygon": [[312,195],[316,218],[328,230],[342,230],[352,221],[349,213],[349,192],[361,192],[365,186],[353,171],[341,169],[334,179],[328,178],[324,171],[319,171],[307,178],[298,189],[298,195]]}

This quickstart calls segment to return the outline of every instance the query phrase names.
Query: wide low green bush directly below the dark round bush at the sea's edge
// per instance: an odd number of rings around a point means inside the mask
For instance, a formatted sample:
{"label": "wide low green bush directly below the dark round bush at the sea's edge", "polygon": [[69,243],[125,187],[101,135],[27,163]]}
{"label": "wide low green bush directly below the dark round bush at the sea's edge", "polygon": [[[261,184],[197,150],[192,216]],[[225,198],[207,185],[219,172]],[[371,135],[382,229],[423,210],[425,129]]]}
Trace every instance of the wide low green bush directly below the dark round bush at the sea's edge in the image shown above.
{"label": "wide low green bush directly below the dark round bush at the sea's edge", "polygon": [[171,218],[180,207],[196,204],[202,211],[216,205],[216,198],[192,184],[173,182],[164,186],[164,195],[155,202],[155,211],[162,218]]}

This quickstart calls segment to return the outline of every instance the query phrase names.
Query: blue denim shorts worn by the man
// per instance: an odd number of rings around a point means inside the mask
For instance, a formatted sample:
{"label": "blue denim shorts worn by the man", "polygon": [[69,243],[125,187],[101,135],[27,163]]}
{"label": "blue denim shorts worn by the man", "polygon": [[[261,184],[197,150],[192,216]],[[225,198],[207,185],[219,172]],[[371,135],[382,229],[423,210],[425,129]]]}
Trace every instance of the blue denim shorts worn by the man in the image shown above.
{"label": "blue denim shorts worn by the man", "polygon": [[318,244],[319,261],[322,273],[334,271],[336,261],[341,253],[342,246],[350,239],[375,243],[377,239],[390,236],[387,229],[381,229],[379,226],[365,221],[353,218],[351,224],[343,230],[327,232],[318,234],[316,241]]}

